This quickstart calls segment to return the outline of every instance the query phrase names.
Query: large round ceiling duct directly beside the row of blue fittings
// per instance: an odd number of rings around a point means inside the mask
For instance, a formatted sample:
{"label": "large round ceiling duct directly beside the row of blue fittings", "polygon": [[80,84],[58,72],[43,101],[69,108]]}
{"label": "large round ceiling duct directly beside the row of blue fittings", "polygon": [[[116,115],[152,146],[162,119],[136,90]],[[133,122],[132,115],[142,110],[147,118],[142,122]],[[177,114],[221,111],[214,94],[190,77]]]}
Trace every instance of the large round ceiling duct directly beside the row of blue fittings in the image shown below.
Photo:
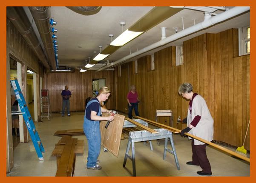
{"label": "large round ceiling duct directly beside the row of blue fittings", "polygon": [[51,16],[51,10],[49,6],[29,6],[29,10],[34,17],[35,24],[41,36],[43,46],[46,50],[52,69],[56,70],[55,54],[52,43],[51,27],[49,18]]}

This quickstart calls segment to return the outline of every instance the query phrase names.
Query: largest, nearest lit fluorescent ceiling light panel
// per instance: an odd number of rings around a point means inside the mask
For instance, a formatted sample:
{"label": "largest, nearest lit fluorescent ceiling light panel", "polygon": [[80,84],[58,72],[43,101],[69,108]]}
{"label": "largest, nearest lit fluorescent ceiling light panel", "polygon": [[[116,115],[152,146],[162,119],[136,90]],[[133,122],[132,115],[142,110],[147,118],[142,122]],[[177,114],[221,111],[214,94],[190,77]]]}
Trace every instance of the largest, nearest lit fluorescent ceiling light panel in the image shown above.
{"label": "largest, nearest lit fluorescent ceiling light panel", "polygon": [[134,31],[124,31],[121,35],[119,35],[115,40],[113,40],[110,45],[112,46],[123,46],[124,44],[128,43],[130,40],[134,39],[138,35],[142,34],[143,32],[134,32]]}

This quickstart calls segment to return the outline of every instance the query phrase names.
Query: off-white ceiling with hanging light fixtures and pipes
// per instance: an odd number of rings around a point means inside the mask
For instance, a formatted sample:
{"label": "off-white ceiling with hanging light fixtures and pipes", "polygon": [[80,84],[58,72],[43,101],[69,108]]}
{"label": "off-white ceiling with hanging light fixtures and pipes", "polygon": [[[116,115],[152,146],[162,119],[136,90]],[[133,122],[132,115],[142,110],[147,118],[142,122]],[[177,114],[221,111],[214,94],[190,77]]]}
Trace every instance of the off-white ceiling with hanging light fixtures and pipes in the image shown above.
{"label": "off-white ceiling with hanging light fixtures and pipes", "polygon": [[[92,15],[78,14],[67,7],[51,7],[52,18],[57,22],[54,26],[58,29],[55,33],[58,38],[58,57],[59,66],[82,68],[86,64],[88,57],[92,60],[95,57],[94,51],[99,53],[99,46],[102,46],[102,50],[110,44],[109,34],[113,34],[112,40],[118,37],[122,33],[122,26],[120,22],[126,22],[124,30],[128,29],[137,20],[147,14],[153,6],[103,6],[101,10]],[[232,8],[232,7],[229,7]],[[217,10],[214,13],[219,14],[223,11]],[[166,37],[175,34],[175,27],[178,27],[178,31],[182,30],[182,17],[184,20],[184,29],[193,26],[194,22],[199,23],[204,20],[204,12],[191,9],[183,9],[172,17],[164,20],[162,23],[148,30],[144,34],[130,41],[115,53],[109,55],[99,64],[92,67],[92,69],[99,69],[106,63],[119,60],[131,53],[143,49],[151,45],[152,43],[161,40],[161,27],[166,27]],[[216,26],[212,26],[203,31],[199,31],[195,34],[190,34],[187,37],[183,37],[179,40],[175,40],[162,46],[158,49],[151,50],[143,55],[149,55],[159,49],[163,49],[168,46],[177,46],[182,44],[183,41],[189,40],[192,37],[203,34],[205,32],[218,33],[230,28],[240,28],[250,25],[250,12],[232,18],[224,23],[219,23]],[[139,55],[139,57],[143,56]],[[127,61],[135,60],[132,58]]]}

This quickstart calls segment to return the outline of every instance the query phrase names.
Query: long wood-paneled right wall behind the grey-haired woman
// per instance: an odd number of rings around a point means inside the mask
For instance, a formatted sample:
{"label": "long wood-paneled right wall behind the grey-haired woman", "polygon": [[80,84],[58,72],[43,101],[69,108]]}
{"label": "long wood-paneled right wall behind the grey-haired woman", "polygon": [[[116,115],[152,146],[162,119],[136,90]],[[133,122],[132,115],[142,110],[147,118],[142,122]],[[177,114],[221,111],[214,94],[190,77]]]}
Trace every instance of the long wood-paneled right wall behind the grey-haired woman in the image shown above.
{"label": "long wood-paneled right wall behind the grey-haired woman", "polygon": [[[178,95],[181,83],[189,82],[193,91],[207,102],[214,119],[214,139],[242,146],[250,118],[250,55],[238,55],[238,30],[202,34],[187,40],[184,65],[175,64],[175,47],[155,52],[155,70],[148,71],[150,56],[138,59],[138,74],[132,74],[132,62],[121,65],[117,77],[117,110],[127,112],[128,83],[137,87],[142,117],[155,120],[156,109],[173,111],[173,126],[178,116],[187,117],[188,101]],[[129,69],[128,69],[129,68]],[[129,73],[128,73],[129,71]],[[159,118],[168,124],[168,117]],[[250,132],[245,147],[250,149]]]}

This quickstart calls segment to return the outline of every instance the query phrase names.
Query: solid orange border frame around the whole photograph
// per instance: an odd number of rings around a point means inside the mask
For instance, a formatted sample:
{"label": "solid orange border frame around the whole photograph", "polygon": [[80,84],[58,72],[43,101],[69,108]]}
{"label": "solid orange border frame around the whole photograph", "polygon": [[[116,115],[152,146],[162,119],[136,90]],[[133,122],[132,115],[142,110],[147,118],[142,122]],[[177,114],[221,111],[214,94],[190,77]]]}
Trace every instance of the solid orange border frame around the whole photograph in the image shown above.
{"label": "solid orange border frame around the whole photograph", "polygon": [[[71,0],[68,2],[63,2],[63,0],[44,0],[40,2],[36,2],[35,0],[9,0],[7,3],[7,0],[2,0],[0,6],[0,16],[2,17],[0,19],[0,27],[3,31],[1,31],[0,34],[0,55],[1,55],[1,65],[2,71],[0,72],[0,78],[2,80],[2,87],[3,87],[3,96],[2,102],[0,105],[0,116],[1,116],[1,123],[0,123],[0,139],[3,139],[1,145],[0,145],[0,158],[2,159],[0,162],[0,179],[3,182],[8,183],[22,183],[22,182],[30,182],[35,181],[37,183],[45,183],[45,182],[70,182],[70,181],[92,181],[92,182],[98,182],[98,181],[104,181],[104,182],[121,182],[121,183],[130,183],[131,181],[134,182],[160,182],[160,181],[178,181],[178,182],[213,182],[216,183],[217,181],[220,182],[253,182],[254,179],[254,142],[253,139],[255,139],[255,134],[250,133],[250,157],[251,157],[251,163],[250,163],[250,177],[6,177],[6,6],[250,6],[250,16],[251,20],[254,18],[254,12],[252,11],[254,9],[255,3],[253,3],[252,0],[215,0],[215,1],[203,1],[203,0],[183,0],[181,1],[173,1],[173,0],[157,0],[155,3],[149,0],[129,0],[127,2],[121,1],[121,0],[96,0],[96,1],[86,1],[86,0]],[[254,22],[250,22],[251,27],[251,50],[254,48]],[[250,86],[250,109],[251,111],[254,111],[255,107],[252,105],[252,102],[255,101],[254,96],[254,80],[255,73],[252,72],[255,69],[255,62],[254,62],[254,53],[251,51],[250,54],[250,60],[251,60],[251,86]],[[253,123],[254,117],[251,113],[250,119],[252,120],[250,129],[255,129],[255,124]],[[70,179],[70,180],[69,180]],[[72,179],[72,180],[71,180]]]}

